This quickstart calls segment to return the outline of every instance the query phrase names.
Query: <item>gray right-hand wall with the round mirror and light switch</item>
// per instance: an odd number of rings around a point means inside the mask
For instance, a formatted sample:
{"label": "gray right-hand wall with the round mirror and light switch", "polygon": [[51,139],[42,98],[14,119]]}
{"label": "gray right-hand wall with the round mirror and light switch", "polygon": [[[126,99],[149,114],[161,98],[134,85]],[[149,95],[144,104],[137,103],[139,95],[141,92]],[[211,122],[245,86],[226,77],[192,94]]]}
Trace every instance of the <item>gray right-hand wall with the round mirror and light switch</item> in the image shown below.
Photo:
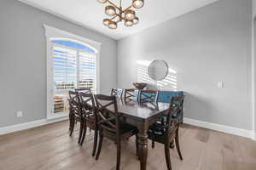
{"label": "gray right-hand wall with the round mirror and light switch", "polygon": [[251,130],[251,29],[251,0],[221,0],[119,40],[118,87],[137,81],[137,60],[164,59],[186,117]]}

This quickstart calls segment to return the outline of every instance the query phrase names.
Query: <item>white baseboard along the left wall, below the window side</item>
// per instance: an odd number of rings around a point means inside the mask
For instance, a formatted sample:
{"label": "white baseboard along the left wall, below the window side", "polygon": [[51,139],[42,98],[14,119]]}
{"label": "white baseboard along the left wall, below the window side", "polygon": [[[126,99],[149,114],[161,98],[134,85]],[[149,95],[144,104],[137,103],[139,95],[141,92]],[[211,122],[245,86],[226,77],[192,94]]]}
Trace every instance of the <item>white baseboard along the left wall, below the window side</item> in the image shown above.
{"label": "white baseboard along the left wall, below the window side", "polygon": [[68,119],[68,116],[62,116],[55,119],[41,119],[38,121],[25,122],[25,123],[20,123],[20,124],[8,126],[8,127],[0,127],[0,135],[7,134],[7,133],[14,133],[14,132],[29,129],[32,127],[40,127],[40,126],[47,125],[54,122],[61,122],[67,119]]}

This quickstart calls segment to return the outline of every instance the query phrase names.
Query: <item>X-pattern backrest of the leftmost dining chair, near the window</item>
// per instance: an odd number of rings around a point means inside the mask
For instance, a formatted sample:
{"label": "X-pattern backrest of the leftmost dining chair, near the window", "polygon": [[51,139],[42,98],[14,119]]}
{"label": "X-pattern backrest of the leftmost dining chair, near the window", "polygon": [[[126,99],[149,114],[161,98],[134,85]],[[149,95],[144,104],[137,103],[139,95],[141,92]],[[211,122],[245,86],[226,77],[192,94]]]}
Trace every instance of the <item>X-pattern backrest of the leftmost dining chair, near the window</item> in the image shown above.
{"label": "X-pattern backrest of the leftmost dining chair, near the window", "polygon": [[79,98],[79,92],[69,91],[69,111],[74,116],[82,117],[81,100]]}

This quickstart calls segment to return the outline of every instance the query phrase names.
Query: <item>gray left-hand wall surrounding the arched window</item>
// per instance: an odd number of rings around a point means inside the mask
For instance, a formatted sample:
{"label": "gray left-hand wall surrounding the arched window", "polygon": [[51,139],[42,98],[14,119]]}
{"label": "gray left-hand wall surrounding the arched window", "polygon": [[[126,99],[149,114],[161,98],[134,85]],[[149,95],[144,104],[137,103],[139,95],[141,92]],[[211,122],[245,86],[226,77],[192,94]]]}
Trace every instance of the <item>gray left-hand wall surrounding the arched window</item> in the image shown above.
{"label": "gray left-hand wall surrounding the arched window", "polygon": [[[100,92],[116,86],[116,41],[16,0],[0,1],[0,127],[46,117],[43,24],[102,42]],[[106,76],[108,73],[108,76]],[[16,118],[16,111],[23,111]]]}

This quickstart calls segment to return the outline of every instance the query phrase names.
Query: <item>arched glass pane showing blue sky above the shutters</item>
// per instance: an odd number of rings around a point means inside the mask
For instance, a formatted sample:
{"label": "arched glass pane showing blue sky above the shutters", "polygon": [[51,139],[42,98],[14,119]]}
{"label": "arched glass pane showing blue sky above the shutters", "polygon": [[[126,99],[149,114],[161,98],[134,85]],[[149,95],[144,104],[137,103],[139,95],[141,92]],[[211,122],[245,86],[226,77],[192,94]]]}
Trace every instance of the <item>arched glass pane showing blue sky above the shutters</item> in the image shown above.
{"label": "arched glass pane showing blue sky above the shutters", "polygon": [[83,49],[85,51],[88,51],[90,53],[96,54],[96,49],[90,48],[90,46],[85,45],[82,42],[74,41],[74,40],[64,40],[64,39],[53,39],[50,42],[60,44],[63,46],[71,47],[71,48],[77,48],[77,49]]}

